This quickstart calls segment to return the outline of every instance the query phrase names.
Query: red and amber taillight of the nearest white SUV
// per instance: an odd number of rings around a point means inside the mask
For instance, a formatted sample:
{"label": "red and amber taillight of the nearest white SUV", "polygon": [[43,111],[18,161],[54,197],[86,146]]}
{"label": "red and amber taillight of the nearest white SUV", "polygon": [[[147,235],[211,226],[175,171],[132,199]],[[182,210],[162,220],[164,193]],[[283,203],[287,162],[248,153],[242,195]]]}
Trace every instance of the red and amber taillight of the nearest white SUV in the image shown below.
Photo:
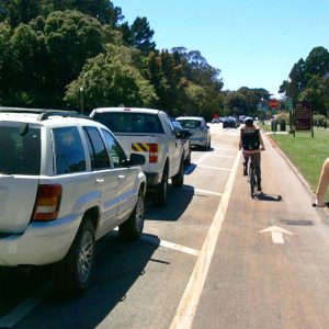
{"label": "red and amber taillight of the nearest white SUV", "polygon": [[47,222],[56,219],[61,200],[61,191],[63,189],[59,184],[38,185],[32,220]]}

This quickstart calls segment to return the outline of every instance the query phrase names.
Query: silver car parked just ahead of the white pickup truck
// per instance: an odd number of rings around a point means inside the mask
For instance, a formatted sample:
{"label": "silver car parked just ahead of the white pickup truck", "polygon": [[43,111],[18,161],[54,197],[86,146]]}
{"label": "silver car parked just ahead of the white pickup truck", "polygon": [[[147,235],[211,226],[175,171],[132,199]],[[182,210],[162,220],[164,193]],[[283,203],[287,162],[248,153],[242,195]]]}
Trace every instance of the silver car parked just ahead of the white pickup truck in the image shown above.
{"label": "silver car parked just ahead of the white pickup truck", "polygon": [[209,126],[202,116],[179,116],[175,118],[184,129],[191,133],[191,145],[207,150],[212,145]]}

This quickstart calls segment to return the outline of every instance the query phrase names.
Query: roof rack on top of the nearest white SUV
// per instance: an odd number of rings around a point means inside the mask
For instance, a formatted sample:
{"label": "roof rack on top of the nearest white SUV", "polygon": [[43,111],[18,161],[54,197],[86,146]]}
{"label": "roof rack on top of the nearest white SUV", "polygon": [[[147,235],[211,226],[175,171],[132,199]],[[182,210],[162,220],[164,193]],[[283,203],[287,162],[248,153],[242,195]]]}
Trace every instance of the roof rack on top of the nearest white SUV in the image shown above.
{"label": "roof rack on top of the nearest white SUV", "polygon": [[63,116],[63,117],[81,117],[91,120],[89,116],[83,115],[77,111],[65,111],[65,110],[46,110],[46,109],[23,109],[23,107],[1,107],[0,113],[29,113],[29,114],[39,114],[37,116],[38,121],[47,120],[49,116]]}

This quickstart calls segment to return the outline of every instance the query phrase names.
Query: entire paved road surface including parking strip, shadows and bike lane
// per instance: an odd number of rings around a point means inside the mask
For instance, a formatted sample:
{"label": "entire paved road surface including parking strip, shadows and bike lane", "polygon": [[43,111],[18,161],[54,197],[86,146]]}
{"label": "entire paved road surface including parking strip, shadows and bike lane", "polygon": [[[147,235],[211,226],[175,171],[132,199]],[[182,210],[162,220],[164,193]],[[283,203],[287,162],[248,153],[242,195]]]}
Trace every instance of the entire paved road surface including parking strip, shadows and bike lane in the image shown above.
{"label": "entire paved road surface including parking strip, shadows and bike lane", "polygon": [[211,132],[140,241],[98,243],[83,296],[58,299],[47,268],[0,277],[0,328],[328,328],[327,211],[266,137],[252,200],[239,131]]}

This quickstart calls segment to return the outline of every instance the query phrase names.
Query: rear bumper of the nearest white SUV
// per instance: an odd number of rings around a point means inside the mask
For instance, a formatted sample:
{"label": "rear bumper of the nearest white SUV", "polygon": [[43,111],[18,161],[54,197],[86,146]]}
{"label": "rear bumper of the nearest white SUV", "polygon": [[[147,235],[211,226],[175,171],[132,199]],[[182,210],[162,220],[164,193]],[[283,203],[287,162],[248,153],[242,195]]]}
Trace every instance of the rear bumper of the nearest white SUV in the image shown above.
{"label": "rear bumper of the nearest white SUV", "polygon": [[44,265],[61,260],[68,252],[82,216],[48,223],[32,223],[23,234],[0,238],[0,265]]}

